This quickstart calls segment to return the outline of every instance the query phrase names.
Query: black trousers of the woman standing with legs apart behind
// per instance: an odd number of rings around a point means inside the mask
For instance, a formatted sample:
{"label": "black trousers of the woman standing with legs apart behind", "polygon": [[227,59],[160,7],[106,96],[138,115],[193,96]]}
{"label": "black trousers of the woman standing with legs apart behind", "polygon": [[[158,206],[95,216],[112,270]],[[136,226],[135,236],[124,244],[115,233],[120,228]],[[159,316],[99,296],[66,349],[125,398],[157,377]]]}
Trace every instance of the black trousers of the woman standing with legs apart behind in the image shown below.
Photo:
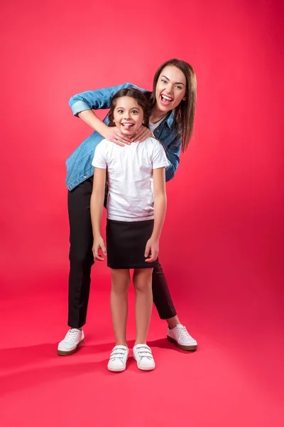
{"label": "black trousers of the woman standing with legs apart behind", "polygon": [[[86,323],[91,283],[93,236],[90,199],[93,178],[68,191],[70,223],[70,275],[68,291],[68,326],[82,327]],[[153,302],[161,319],[176,315],[168,283],[160,263],[153,269]]]}

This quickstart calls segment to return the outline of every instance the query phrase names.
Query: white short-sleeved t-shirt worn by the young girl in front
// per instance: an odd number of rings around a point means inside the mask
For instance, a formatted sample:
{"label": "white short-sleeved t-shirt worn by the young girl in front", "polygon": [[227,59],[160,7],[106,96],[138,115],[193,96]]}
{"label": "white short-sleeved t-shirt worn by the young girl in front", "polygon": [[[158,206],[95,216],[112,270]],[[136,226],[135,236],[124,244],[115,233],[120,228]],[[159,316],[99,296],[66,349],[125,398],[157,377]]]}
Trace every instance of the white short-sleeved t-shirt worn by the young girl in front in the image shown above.
{"label": "white short-sleeved t-shirt worn by the young girl in front", "polygon": [[107,218],[145,221],[154,218],[153,169],[168,167],[163,145],[155,138],[120,147],[103,139],[94,152],[94,167],[107,169]]}

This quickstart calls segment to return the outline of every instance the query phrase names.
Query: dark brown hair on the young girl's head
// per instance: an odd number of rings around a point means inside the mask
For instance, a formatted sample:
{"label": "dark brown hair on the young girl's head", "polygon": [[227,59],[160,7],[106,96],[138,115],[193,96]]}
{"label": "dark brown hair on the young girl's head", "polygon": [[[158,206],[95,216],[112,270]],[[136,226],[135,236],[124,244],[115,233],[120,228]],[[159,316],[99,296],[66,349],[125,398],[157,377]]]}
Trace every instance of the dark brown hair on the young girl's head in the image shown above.
{"label": "dark brown hair on the young girl's head", "polygon": [[150,103],[146,96],[138,89],[121,89],[111,98],[111,106],[109,110],[109,126],[115,126],[114,123],[114,108],[116,107],[116,101],[123,96],[133,97],[137,104],[143,110],[143,125],[149,127],[149,115],[150,115]]}

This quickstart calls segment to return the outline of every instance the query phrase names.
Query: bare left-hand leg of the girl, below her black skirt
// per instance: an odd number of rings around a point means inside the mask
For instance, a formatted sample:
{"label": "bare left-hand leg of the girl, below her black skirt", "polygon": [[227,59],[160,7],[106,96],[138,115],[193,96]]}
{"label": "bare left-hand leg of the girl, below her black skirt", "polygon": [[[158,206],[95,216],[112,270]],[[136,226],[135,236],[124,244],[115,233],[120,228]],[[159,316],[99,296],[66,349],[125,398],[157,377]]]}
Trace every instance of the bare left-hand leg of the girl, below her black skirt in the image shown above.
{"label": "bare left-hand leg of the girl, below her black skirt", "polygon": [[111,268],[111,318],[116,345],[126,344],[127,295],[130,285],[129,270]]}

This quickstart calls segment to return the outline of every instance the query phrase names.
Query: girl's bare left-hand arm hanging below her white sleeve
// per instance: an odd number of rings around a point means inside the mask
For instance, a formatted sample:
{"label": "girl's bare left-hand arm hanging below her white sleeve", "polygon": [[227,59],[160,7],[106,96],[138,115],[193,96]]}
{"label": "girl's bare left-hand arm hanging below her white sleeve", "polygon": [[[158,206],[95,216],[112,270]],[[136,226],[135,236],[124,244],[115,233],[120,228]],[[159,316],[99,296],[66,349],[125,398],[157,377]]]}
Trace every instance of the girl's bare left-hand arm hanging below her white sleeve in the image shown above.
{"label": "girl's bare left-hand arm hanging below her white sleeve", "polygon": [[104,239],[101,235],[102,224],[102,209],[104,207],[104,189],[106,184],[107,169],[94,168],[94,182],[91,196],[91,219],[92,230],[94,236],[93,254],[94,258],[102,261],[104,258],[99,255],[99,249],[102,253],[107,255]]}

